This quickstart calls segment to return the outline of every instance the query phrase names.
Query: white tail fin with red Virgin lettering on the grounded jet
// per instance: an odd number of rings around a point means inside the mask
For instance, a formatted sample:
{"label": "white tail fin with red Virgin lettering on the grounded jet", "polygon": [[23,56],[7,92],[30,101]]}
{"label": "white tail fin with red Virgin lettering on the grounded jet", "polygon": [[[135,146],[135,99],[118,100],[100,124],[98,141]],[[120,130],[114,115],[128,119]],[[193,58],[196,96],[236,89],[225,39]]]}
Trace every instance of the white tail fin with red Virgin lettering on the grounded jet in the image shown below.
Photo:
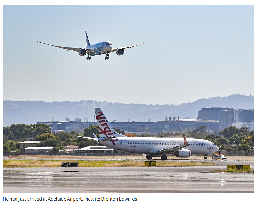
{"label": "white tail fin with red Virgin lettering on the grounded jet", "polygon": [[123,134],[117,133],[110,122],[107,120],[103,112],[101,111],[100,108],[94,108],[95,110],[95,115],[96,115],[96,120],[97,120],[97,125],[99,128],[99,137],[102,138],[108,138],[108,137],[126,137]]}

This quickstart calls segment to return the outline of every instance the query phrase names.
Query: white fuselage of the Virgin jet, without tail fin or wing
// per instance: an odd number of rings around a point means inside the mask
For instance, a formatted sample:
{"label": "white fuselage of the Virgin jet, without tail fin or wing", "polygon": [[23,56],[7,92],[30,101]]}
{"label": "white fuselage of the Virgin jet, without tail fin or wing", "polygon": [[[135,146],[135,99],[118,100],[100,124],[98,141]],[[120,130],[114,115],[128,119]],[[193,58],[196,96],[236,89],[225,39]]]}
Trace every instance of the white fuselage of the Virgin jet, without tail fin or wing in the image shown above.
{"label": "white fuselage of the Virgin jet, without tail fin or wing", "polygon": [[[117,137],[112,141],[100,141],[102,145],[111,147],[116,150],[128,153],[141,154],[163,154],[164,152],[156,153],[157,150],[163,148],[175,147],[184,143],[183,138],[160,138],[160,137]],[[202,139],[187,138],[189,146],[185,147],[193,154],[212,154],[219,150],[211,141]],[[167,153],[168,154],[168,153]]]}

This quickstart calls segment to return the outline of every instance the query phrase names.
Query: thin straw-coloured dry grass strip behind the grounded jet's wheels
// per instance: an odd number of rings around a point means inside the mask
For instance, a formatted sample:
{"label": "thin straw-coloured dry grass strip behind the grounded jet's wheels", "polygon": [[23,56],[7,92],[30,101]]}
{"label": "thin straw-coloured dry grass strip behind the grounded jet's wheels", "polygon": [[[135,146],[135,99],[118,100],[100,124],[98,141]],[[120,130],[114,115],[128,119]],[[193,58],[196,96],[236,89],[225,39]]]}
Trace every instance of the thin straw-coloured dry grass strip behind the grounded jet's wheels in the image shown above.
{"label": "thin straw-coloured dry grass strip behind the grounded jet's wheels", "polygon": [[[7,157],[6,157],[7,158]],[[115,156],[73,156],[73,155],[19,155],[19,156],[14,156],[13,159],[51,159],[51,158],[60,158],[60,159],[138,159],[138,160],[143,160],[146,159],[145,155],[115,155]],[[195,156],[193,155],[192,157],[189,158],[178,158],[173,155],[167,156],[167,159],[173,159],[173,160],[179,160],[179,159],[187,159],[187,160],[194,160],[194,159],[199,159],[203,160],[204,156]],[[208,156],[208,159],[211,159],[211,156]],[[153,157],[152,160],[160,160],[160,157]],[[254,161],[254,156],[227,156],[227,160],[233,160],[233,161]],[[216,160],[218,161],[218,160]]]}

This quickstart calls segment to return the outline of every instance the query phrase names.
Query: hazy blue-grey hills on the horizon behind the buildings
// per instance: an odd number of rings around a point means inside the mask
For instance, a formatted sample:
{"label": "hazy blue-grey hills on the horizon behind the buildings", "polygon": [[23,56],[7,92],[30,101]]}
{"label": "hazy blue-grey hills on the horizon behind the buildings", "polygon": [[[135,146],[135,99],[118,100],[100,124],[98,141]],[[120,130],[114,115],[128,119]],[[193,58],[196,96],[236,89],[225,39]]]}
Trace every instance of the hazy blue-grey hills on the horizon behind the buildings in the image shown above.
{"label": "hazy blue-grey hills on the horizon behind the buildings", "polygon": [[44,101],[11,101],[3,100],[3,126],[12,123],[34,124],[37,121],[65,121],[65,117],[74,120],[75,117],[87,117],[94,121],[94,107],[100,107],[109,121],[136,122],[163,121],[165,116],[180,118],[196,118],[202,107],[230,107],[237,109],[253,109],[254,96],[234,94],[227,97],[211,97],[179,105],[146,105],[122,104],[112,102],[97,102],[82,100],[79,102],[44,102]]}

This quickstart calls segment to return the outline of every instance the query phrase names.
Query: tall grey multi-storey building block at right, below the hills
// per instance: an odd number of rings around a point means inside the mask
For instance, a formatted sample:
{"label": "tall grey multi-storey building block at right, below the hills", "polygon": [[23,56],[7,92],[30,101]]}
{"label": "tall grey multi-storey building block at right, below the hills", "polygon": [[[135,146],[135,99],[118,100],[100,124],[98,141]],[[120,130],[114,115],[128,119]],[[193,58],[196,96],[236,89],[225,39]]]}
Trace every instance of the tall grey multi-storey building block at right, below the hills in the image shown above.
{"label": "tall grey multi-storey building block at right, below the hills", "polygon": [[217,120],[220,122],[220,129],[232,126],[238,122],[254,122],[254,109],[234,109],[234,108],[222,108],[211,107],[202,108],[198,111],[199,120]]}

